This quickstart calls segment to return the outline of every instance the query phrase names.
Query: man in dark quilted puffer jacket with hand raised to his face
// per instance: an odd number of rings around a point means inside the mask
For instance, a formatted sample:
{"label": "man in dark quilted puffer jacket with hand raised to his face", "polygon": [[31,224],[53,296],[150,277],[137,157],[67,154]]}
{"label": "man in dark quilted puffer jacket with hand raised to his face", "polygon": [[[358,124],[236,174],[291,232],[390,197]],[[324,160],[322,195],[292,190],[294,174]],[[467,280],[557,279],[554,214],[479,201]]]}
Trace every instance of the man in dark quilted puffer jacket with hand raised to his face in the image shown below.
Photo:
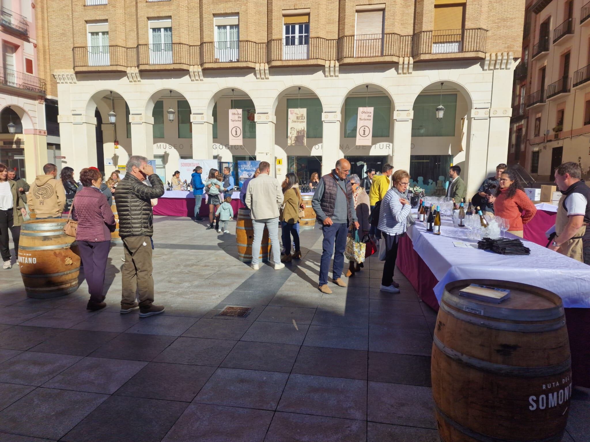
{"label": "man in dark quilted puffer jacket with hand raised to his face", "polygon": [[[152,198],[164,194],[164,184],[153,172],[148,159],[139,155],[129,158],[127,174],[117,184],[114,200],[119,214],[119,236],[123,240],[125,263],[122,275],[122,314],[139,308],[140,318],[158,315],[164,306],[153,305],[152,246],[153,212]],[[143,184],[148,179],[152,186]],[[139,289],[139,304],[135,292]]]}

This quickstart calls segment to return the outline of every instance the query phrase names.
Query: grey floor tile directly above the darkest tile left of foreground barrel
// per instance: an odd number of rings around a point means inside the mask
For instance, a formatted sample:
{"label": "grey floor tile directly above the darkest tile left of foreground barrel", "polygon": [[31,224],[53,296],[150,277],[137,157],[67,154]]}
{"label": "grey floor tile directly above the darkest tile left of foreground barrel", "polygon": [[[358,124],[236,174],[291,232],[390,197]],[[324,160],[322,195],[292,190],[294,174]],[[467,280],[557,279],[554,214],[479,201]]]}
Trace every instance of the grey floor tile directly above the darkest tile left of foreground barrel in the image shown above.
{"label": "grey floor tile directly above the darkest tile left of foreground barrel", "polygon": [[432,336],[400,329],[369,326],[369,351],[430,356]]}

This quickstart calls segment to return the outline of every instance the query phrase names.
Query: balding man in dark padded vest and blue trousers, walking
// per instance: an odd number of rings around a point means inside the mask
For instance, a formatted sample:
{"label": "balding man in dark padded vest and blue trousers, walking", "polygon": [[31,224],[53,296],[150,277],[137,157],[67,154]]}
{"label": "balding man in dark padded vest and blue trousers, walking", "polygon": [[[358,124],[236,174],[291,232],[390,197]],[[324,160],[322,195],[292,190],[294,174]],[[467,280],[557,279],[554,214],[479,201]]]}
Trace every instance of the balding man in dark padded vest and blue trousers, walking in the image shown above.
{"label": "balding man in dark padded vest and blue trousers, walking", "polygon": [[316,212],[317,221],[322,223],[324,233],[318,286],[322,293],[332,293],[328,287],[328,271],[332,253],[334,253],[332,282],[337,286],[346,287],[346,282],[340,278],[344,268],[346,236],[351,223],[357,229],[359,228],[355,202],[352,198],[352,187],[348,180],[349,173],[350,163],[348,160],[342,158],[336,161],[335,169],[320,179],[316,192],[313,194],[312,207]]}

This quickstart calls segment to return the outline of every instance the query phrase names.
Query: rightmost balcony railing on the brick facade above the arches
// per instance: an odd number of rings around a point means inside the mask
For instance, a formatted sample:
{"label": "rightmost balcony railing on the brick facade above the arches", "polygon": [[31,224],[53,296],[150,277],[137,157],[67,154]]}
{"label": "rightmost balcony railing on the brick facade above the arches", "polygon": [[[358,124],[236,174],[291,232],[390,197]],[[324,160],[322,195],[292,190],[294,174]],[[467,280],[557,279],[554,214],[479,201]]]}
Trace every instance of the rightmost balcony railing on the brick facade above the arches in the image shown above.
{"label": "rightmost balcony railing on the brick facade above the arches", "polygon": [[486,52],[486,33],[483,28],[417,32],[412,39],[412,56]]}

